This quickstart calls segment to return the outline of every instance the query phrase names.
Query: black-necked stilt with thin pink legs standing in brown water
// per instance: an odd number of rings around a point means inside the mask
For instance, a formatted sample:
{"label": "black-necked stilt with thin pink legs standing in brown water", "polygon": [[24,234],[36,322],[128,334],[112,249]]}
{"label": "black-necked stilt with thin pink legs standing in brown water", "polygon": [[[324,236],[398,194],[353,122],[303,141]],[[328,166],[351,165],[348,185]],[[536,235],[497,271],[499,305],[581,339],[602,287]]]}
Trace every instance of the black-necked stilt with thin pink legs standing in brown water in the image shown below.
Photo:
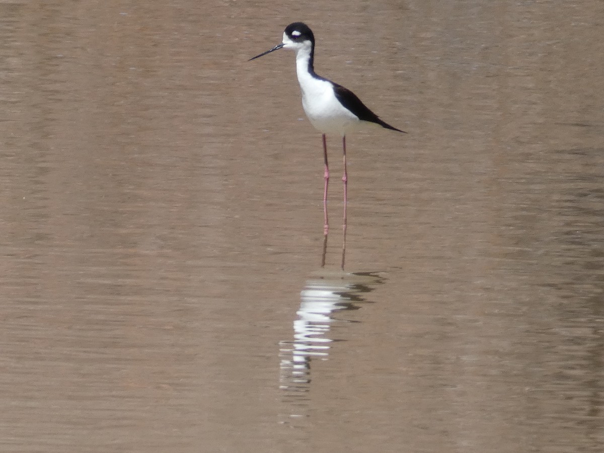
{"label": "black-necked stilt with thin pink legs standing in brown water", "polygon": [[362,124],[379,124],[386,129],[403,132],[385,123],[349,89],[331,80],[317,76],[313,67],[315,57],[315,36],[303,22],[294,22],[285,27],[283,42],[270,50],[249,60],[254,60],[280,48],[292,49],[296,53],[296,72],[302,91],[302,106],[310,123],[323,133],[323,156],[325,161],[325,189],[323,193],[323,213],[325,234],[329,229],[327,222],[327,184],[329,183],[329,165],[327,164],[327,133],[338,133],[342,137],[344,156],[344,233],[346,231],[346,204],[348,201],[348,175],[346,172],[346,133]]}

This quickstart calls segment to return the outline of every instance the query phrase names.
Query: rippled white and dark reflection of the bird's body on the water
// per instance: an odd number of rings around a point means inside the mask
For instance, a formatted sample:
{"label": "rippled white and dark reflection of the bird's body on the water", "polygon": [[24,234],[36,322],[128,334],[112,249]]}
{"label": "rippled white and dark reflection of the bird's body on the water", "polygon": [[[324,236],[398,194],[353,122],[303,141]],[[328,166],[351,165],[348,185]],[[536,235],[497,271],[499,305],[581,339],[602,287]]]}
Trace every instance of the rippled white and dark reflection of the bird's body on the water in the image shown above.
{"label": "rippled white and dark reflection of the bird's body on the water", "polygon": [[[294,320],[294,339],[280,342],[280,388],[287,408],[286,422],[306,417],[311,387],[313,359],[327,360],[335,341],[330,329],[355,323],[345,319],[346,310],[358,310],[368,303],[367,295],[377,284],[384,283],[377,272],[342,272],[321,269],[309,280],[300,294],[300,308]],[[338,330],[339,336],[347,330]]]}

